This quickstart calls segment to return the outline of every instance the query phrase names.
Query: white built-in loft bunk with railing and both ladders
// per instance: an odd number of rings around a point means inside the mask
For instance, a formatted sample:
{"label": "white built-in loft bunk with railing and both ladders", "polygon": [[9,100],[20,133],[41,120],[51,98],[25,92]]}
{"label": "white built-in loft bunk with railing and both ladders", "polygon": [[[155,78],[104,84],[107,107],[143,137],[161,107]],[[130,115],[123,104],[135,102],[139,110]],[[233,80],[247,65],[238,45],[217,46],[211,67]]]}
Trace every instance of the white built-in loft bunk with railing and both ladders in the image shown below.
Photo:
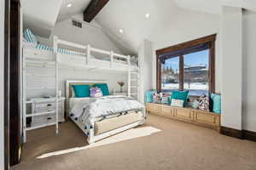
{"label": "white built-in loft bunk with railing and both ladders", "polygon": [[[86,69],[94,70],[108,70],[108,71],[123,71],[128,75],[128,96],[138,99],[139,94],[139,67],[131,65],[131,57],[123,54],[116,54],[113,51],[106,51],[98,48],[90,47],[90,45],[81,45],[74,42],[67,42],[54,37],[54,47],[46,49],[39,49],[35,47],[23,47],[23,136],[26,142],[26,131],[36,129],[39,127],[26,127],[26,117],[37,116],[26,113],[26,105],[31,104],[31,101],[26,99],[26,66],[39,66],[55,68],[55,113],[56,122],[49,125],[55,125],[55,132],[58,133],[58,108],[59,108],[59,70],[60,69]],[[60,46],[75,48],[77,50],[63,50]],[[103,54],[105,58],[94,57],[92,53]],[[106,59],[107,56],[107,59]],[[37,77],[37,75],[32,75]],[[44,77],[44,75],[39,75]],[[45,75],[47,76],[47,75]],[[52,87],[51,87],[52,88]],[[49,89],[49,87],[32,88]],[[39,113],[39,115],[47,113]],[[44,126],[44,127],[45,127]],[[40,126],[42,127],[42,126]]]}

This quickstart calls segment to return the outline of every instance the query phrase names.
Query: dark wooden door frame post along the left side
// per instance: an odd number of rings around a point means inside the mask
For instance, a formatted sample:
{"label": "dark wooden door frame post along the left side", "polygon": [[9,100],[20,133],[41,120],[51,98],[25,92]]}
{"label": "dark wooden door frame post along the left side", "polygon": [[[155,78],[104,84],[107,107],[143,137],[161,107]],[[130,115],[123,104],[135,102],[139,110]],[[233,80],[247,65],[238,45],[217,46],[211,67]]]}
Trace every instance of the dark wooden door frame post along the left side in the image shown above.
{"label": "dark wooden door frame post along the left side", "polygon": [[5,170],[20,162],[20,25],[20,0],[5,0],[3,94]]}

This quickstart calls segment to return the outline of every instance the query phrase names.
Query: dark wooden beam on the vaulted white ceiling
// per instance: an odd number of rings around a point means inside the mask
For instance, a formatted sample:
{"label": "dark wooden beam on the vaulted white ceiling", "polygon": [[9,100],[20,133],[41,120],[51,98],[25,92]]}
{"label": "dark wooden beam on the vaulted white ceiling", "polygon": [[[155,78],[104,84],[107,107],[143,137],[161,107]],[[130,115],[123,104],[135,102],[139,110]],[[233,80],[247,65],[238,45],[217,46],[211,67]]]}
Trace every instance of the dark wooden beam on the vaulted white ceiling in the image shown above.
{"label": "dark wooden beam on the vaulted white ceiling", "polygon": [[91,0],[87,8],[84,9],[84,21],[90,22],[96,17],[109,0]]}

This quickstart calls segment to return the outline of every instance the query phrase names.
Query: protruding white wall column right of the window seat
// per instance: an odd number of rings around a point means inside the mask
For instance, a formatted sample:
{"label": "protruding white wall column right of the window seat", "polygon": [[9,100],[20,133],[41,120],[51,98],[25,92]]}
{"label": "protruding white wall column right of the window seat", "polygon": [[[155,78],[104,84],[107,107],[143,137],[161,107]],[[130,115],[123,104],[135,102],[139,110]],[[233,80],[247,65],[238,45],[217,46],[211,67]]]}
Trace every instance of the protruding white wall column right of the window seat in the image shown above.
{"label": "protruding white wall column right of the window seat", "polygon": [[241,130],[242,10],[223,7],[221,125]]}

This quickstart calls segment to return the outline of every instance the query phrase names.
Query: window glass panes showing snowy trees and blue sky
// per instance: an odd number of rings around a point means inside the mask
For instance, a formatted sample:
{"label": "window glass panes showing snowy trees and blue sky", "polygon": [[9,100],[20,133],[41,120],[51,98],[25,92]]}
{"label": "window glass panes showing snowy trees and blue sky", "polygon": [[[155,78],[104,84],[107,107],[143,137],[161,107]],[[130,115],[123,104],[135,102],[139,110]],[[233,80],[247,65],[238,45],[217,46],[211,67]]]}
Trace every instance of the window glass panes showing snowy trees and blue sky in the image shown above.
{"label": "window glass panes showing snowy trees and blue sky", "polygon": [[[209,49],[183,56],[183,89],[189,95],[208,94],[209,91]],[[179,57],[166,59],[161,68],[161,88],[163,92],[180,89]]]}

